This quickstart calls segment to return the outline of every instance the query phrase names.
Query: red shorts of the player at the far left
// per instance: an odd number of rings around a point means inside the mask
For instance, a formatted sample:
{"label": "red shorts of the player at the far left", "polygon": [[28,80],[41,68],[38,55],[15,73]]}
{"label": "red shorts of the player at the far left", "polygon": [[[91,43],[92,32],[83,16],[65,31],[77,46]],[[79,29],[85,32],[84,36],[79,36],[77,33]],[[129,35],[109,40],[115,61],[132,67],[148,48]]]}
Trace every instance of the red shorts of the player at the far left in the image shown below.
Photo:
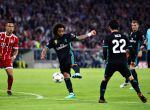
{"label": "red shorts of the player at the far left", "polygon": [[11,59],[0,60],[0,68],[13,68],[13,63]]}

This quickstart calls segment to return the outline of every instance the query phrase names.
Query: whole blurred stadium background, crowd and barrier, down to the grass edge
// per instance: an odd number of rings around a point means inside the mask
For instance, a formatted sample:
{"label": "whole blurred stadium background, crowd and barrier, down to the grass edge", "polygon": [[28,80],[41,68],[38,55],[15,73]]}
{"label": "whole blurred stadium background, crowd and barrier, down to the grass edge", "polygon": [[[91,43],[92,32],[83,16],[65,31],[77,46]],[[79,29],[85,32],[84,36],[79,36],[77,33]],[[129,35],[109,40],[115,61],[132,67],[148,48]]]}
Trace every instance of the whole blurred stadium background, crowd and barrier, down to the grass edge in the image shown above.
{"label": "whole blurred stadium background, crowd and barrier, down to the grass edge", "polygon": [[120,30],[128,35],[131,20],[137,19],[145,35],[150,20],[149,6],[149,0],[0,0],[0,31],[5,30],[6,19],[14,17],[15,34],[20,40],[15,65],[25,67],[26,63],[28,67],[47,68],[58,67],[53,50],[48,53],[44,64],[40,60],[42,47],[53,37],[54,24],[64,23],[66,32],[76,34],[96,29],[96,37],[73,43],[73,47],[81,67],[103,67],[101,46],[108,33],[108,21],[118,19]]}

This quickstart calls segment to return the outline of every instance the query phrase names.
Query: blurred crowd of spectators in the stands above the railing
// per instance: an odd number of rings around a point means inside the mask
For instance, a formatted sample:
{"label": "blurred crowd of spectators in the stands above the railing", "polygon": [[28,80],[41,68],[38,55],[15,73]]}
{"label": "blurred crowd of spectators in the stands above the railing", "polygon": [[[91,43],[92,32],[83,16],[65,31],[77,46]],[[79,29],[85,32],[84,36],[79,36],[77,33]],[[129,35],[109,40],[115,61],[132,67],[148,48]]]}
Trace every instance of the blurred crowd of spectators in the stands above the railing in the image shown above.
{"label": "blurred crowd of spectators in the stands above the railing", "polygon": [[[97,37],[78,46],[95,48],[101,46],[110,19],[118,19],[121,29],[128,32],[131,19],[149,22],[149,6],[149,0],[63,0],[63,3],[61,0],[1,0],[0,31],[4,30],[7,17],[14,17],[20,47],[39,48],[52,38],[52,26],[62,22],[66,24],[67,32],[82,34],[89,28],[96,29]],[[141,28],[144,28],[143,24]]]}

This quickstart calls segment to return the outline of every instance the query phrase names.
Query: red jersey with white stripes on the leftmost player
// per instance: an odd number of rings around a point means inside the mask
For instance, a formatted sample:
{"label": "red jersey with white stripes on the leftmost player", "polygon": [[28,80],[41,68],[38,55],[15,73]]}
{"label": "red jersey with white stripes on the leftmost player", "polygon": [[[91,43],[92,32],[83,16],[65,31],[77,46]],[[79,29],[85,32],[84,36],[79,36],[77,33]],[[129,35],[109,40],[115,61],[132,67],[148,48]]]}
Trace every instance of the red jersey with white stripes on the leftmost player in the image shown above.
{"label": "red jersey with white stripes on the leftmost player", "polygon": [[13,49],[18,49],[18,42],[14,34],[7,36],[6,32],[0,32],[0,60],[11,59]]}

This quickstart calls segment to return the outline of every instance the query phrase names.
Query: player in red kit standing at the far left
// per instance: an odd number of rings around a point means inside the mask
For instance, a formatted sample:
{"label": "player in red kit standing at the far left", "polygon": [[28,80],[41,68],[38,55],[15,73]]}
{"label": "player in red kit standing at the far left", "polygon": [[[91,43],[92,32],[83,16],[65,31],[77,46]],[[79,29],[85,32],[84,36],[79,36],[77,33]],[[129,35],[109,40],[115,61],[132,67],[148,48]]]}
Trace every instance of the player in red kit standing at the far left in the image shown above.
{"label": "player in red kit standing at the far left", "polygon": [[8,20],[5,28],[5,32],[0,32],[0,68],[6,69],[8,75],[7,94],[12,95],[13,61],[18,54],[18,37],[13,34],[14,20]]}

